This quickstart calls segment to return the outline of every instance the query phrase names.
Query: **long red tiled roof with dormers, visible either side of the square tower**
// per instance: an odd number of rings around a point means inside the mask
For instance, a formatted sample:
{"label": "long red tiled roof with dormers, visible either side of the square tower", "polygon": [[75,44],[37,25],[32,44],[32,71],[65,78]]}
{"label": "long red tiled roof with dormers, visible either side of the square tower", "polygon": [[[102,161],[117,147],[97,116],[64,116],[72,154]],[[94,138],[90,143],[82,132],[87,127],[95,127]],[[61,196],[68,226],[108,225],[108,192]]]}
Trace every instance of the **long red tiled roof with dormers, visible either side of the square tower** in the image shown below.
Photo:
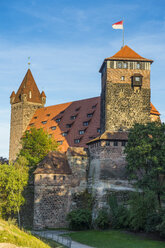
{"label": "long red tiled roof with dormers, visible either side of the square tower", "polygon": [[[151,114],[153,112],[155,115],[159,115],[159,112],[151,104]],[[88,114],[91,113],[93,115],[89,117]],[[84,122],[88,122],[89,125],[84,126]],[[27,130],[32,126],[37,129],[43,128],[55,140],[62,141],[63,143],[60,145],[62,152],[67,151],[68,147],[87,147],[86,144],[90,140],[100,135],[98,132],[100,129],[100,97],[37,109]],[[80,134],[80,130],[84,130],[84,134]]]}

